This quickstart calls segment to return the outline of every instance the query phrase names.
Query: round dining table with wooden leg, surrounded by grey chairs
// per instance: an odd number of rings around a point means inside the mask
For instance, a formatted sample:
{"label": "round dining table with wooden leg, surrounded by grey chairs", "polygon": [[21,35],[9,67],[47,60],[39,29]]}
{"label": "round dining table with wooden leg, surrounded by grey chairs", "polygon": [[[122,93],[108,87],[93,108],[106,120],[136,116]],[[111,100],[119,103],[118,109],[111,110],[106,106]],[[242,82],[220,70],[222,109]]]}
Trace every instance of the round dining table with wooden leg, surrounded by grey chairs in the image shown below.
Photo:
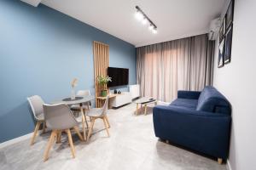
{"label": "round dining table with wooden leg, surrounded by grey chairs", "polygon": [[85,118],[84,110],[83,110],[82,106],[83,106],[83,103],[89,102],[93,99],[95,99],[95,97],[92,95],[86,95],[86,96],[77,95],[75,99],[65,98],[65,99],[59,99],[59,100],[55,100],[55,101],[51,102],[51,104],[53,104],[53,105],[55,105],[55,104],[80,105],[84,141],[86,141],[86,139],[87,139],[86,135],[85,135],[86,130],[85,130],[85,124],[84,124],[86,122],[86,118]]}

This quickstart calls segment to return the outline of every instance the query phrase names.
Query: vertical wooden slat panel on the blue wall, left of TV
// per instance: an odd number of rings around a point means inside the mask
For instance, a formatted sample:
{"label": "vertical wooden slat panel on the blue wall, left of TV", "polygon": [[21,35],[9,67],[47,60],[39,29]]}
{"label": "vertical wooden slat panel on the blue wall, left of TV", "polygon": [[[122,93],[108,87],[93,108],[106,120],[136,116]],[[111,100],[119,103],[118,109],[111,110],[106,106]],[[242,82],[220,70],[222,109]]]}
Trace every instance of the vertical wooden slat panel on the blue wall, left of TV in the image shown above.
{"label": "vertical wooden slat panel on the blue wall, left of TV", "polygon": [[[94,54],[94,75],[95,75],[95,94],[96,97],[101,95],[101,89],[97,83],[97,77],[107,77],[107,69],[109,65],[109,46],[102,42],[93,42]],[[107,88],[107,86],[105,87]],[[109,92],[109,89],[108,89]],[[96,107],[102,107],[104,100],[96,99]]]}

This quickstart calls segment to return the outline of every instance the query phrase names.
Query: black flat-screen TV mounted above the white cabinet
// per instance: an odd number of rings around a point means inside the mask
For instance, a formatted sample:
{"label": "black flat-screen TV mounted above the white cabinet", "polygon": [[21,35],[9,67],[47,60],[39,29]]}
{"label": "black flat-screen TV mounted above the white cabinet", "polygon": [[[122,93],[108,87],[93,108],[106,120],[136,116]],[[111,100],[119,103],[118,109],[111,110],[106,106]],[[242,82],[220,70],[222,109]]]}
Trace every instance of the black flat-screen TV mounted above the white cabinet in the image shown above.
{"label": "black flat-screen TV mounted above the white cabinet", "polygon": [[108,82],[108,87],[123,86],[129,82],[129,69],[108,67],[108,77],[112,82]]}

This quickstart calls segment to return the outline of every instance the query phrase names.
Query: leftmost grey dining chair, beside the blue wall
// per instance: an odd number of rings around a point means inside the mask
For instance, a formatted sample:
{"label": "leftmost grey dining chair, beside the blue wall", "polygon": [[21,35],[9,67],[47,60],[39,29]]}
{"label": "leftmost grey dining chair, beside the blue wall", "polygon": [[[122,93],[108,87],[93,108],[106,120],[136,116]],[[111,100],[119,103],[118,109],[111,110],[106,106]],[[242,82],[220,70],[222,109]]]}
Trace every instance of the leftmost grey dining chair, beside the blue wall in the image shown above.
{"label": "leftmost grey dining chair, beside the blue wall", "polygon": [[30,143],[32,145],[35,142],[38,129],[41,124],[43,124],[43,133],[45,132],[46,126],[44,122],[44,109],[43,109],[44,100],[38,95],[28,97],[27,100],[29,105],[31,106],[34,119],[37,121],[34,133],[32,135],[31,143]]}

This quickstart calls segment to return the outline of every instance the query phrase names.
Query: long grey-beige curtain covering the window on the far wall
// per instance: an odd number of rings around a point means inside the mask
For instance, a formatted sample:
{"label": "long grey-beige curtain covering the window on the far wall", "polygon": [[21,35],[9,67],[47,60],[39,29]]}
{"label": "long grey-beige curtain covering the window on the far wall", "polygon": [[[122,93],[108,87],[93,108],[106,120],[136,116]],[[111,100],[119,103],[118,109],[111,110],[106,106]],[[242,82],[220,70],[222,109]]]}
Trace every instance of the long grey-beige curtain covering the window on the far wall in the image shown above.
{"label": "long grey-beige curtain covering the window on the far wall", "polygon": [[170,102],[177,90],[212,85],[214,42],[207,34],[137,48],[141,95]]}

